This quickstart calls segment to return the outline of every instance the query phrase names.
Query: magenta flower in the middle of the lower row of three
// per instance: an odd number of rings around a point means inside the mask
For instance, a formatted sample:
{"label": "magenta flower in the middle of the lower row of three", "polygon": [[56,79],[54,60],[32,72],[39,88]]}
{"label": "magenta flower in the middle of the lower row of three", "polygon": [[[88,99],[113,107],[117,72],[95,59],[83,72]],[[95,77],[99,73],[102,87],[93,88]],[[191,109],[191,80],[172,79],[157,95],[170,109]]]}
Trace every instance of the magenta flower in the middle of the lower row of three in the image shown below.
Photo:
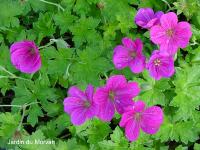
{"label": "magenta flower in the middle of the lower row of three", "polygon": [[140,92],[136,82],[127,83],[123,75],[114,75],[107,80],[104,87],[96,90],[94,101],[99,105],[98,117],[103,121],[111,121],[115,109],[123,113],[124,108],[133,104],[132,99]]}

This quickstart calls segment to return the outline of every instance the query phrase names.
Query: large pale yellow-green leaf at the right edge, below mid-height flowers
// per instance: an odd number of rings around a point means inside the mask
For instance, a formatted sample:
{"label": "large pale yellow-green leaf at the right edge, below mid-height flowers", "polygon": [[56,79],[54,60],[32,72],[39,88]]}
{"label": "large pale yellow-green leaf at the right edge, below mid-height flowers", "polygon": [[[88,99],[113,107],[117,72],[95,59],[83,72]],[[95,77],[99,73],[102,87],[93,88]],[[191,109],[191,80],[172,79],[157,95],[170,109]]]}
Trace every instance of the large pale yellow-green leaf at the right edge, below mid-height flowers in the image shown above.
{"label": "large pale yellow-green leaf at the right edge, below mid-height flowers", "polygon": [[[184,66],[184,69],[177,68],[174,85],[176,96],[170,105],[178,107],[176,119],[187,120],[193,117],[195,109],[200,105],[200,73],[199,66]],[[189,101],[189,102],[188,102]]]}

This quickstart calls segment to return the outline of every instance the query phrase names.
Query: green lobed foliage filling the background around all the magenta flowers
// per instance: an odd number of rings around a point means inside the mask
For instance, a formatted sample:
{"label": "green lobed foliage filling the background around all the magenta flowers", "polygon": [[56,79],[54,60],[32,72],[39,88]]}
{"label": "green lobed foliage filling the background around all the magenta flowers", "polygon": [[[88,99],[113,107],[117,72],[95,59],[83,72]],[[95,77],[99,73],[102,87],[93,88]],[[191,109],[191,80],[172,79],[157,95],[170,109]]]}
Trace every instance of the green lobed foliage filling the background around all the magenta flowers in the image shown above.
{"label": "green lobed foliage filling the background around all the magenta flowers", "polygon": [[[200,1],[198,0],[0,0],[0,105],[27,106],[20,132],[22,109],[0,107],[0,147],[22,150],[186,150],[200,149]],[[62,6],[62,8],[59,8]],[[147,71],[136,75],[112,64],[113,48],[122,37],[141,38],[150,56],[156,45],[149,32],[133,23],[137,10],[174,11],[179,20],[189,21],[193,36],[179,50],[176,74],[155,81]],[[10,62],[9,47],[15,41],[34,40],[41,46],[42,68],[28,75]],[[49,43],[50,42],[50,43]],[[85,89],[105,83],[113,74],[137,81],[142,89],[136,99],[148,106],[160,105],[164,123],[155,135],[141,132],[128,142],[118,126],[98,119],[73,126],[63,112],[67,89]],[[56,141],[56,145],[7,145],[8,139]]]}

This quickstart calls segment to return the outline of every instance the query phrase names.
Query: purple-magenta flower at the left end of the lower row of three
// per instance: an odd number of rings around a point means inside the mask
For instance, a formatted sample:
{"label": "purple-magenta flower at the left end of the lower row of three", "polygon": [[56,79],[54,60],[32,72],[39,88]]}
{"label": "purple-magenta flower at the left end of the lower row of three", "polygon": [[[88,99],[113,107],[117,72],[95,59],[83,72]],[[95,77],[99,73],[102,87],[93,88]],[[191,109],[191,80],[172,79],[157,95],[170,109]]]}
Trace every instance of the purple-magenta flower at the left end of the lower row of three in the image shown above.
{"label": "purple-magenta flower at the left end of the lower row of three", "polygon": [[81,125],[86,120],[93,118],[98,107],[93,102],[94,88],[88,85],[85,92],[72,86],[69,91],[69,97],[64,99],[64,111],[71,115],[71,122],[74,125]]}

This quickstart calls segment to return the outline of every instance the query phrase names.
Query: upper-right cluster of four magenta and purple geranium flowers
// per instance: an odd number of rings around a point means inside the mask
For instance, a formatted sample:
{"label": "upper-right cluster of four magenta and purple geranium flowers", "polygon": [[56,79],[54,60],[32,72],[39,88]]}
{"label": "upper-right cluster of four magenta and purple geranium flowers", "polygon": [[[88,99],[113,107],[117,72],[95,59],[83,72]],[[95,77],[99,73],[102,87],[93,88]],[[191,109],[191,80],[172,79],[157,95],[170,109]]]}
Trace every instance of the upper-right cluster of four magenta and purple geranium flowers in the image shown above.
{"label": "upper-right cluster of four magenta and purple geranium flowers", "polygon": [[159,11],[154,14],[151,8],[139,9],[135,23],[150,30],[151,41],[158,44],[160,50],[154,50],[149,61],[146,62],[142,54],[142,41],[123,38],[122,45],[114,48],[115,68],[130,67],[133,73],[140,73],[146,68],[156,80],[171,77],[175,72],[174,54],[178,48],[185,48],[192,36],[190,24],[178,22],[177,15],[173,12],[164,14]]}

